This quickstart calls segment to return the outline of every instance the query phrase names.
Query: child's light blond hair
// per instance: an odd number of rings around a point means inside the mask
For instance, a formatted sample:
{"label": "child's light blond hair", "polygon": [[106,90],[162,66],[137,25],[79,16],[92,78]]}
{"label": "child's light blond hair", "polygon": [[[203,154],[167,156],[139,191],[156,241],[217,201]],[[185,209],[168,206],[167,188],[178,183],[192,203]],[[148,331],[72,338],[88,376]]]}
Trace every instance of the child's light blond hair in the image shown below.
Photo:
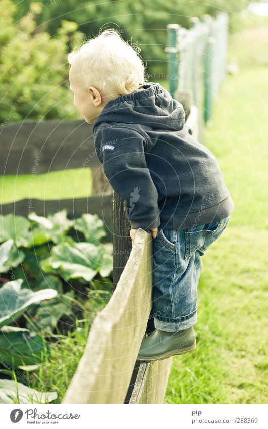
{"label": "child's light blond hair", "polygon": [[103,94],[129,94],[145,82],[145,68],[140,48],[125,42],[115,29],[104,30],[68,54],[87,86],[93,85]]}

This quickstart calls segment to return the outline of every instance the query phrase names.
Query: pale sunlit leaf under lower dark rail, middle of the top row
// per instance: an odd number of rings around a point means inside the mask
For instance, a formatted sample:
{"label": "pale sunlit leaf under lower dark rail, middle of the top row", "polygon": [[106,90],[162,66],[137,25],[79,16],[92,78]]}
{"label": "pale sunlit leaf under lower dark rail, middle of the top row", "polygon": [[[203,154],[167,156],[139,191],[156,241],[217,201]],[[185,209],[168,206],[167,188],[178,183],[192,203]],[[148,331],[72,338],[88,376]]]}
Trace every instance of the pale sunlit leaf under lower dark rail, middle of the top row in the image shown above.
{"label": "pale sunlit leaf under lower dark rail, middle of the top row", "polygon": [[[60,243],[66,241],[66,232],[73,226],[74,221],[67,218],[67,211],[48,215],[48,217],[37,216],[35,213],[29,215],[29,219],[36,222],[39,226],[33,227],[33,243],[42,244],[45,241]],[[70,237],[69,237],[70,238]],[[71,240],[71,239],[70,239]]]}

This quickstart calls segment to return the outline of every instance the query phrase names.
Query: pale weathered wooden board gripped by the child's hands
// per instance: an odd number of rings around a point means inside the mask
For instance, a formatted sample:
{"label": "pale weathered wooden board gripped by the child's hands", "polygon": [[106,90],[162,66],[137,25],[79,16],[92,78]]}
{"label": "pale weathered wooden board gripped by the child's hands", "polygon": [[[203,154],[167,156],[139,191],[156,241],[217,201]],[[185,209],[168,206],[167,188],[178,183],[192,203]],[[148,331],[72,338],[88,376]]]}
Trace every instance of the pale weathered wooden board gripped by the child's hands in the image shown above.
{"label": "pale weathered wooden board gripped by the child's hands", "polygon": [[[106,307],[95,317],[63,404],[124,403],[151,304],[152,238],[139,228],[116,290]],[[151,383],[156,380],[157,389],[153,399],[157,395],[159,402],[163,401],[165,394],[170,363],[170,359],[166,359],[156,365],[145,364],[154,367]],[[158,373],[162,374],[161,379]],[[142,395],[137,397],[142,398]]]}

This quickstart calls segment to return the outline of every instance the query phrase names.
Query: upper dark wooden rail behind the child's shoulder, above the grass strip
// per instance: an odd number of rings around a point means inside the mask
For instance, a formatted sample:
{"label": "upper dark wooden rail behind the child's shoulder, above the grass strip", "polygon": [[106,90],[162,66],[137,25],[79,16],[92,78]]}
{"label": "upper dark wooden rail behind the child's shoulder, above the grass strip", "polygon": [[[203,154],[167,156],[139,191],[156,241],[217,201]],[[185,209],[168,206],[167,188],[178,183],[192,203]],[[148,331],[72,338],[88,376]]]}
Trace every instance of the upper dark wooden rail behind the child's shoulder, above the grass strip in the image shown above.
{"label": "upper dark wooden rail behind the child's shoulder, above the grass strip", "polygon": [[2,176],[101,166],[93,126],[83,120],[16,122],[1,128],[0,141]]}

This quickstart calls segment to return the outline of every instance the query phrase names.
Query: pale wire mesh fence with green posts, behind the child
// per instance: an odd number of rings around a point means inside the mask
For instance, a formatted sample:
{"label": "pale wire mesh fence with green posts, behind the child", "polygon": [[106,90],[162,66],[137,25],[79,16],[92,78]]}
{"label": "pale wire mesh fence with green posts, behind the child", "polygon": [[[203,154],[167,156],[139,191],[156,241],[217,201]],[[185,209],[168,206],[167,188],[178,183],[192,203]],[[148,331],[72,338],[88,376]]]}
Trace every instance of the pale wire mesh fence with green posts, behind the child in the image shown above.
{"label": "pale wire mesh fence with green posts, behind the child", "polygon": [[226,75],[228,14],[193,17],[189,30],[177,24],[169,24],[167,30],[165,51],[171,96],[191,91],[193,104],[206,123]]}

